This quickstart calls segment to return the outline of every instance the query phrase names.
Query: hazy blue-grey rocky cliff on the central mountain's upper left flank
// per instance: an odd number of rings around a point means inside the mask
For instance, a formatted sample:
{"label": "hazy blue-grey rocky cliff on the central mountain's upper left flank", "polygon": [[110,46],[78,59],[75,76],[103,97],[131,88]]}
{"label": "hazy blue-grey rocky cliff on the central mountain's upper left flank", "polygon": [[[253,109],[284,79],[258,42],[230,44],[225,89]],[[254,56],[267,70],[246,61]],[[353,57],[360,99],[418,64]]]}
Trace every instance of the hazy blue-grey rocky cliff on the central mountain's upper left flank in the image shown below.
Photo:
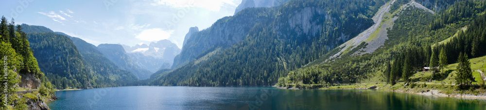
{"label": "hazy blue-grey rocky cliff on the central mountain's upper left flank", "polygon": [[186,45],[183,45],[181,53],[174,58],[172,68],[189,63],[198,56],[204,56],[200,54],[208,53],[211,49],[230,47],[243,40],[257,22],[269,20],[271,16],[259,16],[256,13],[221,18],[210,28],[191,34]]}

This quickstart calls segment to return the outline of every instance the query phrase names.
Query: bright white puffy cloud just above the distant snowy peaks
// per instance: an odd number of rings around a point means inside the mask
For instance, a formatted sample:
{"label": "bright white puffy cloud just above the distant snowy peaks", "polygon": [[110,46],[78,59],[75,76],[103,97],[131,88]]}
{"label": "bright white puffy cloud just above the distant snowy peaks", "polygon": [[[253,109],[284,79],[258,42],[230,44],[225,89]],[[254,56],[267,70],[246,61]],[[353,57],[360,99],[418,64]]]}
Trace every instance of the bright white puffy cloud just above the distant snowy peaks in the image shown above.
{"label": "bright white puffy cloud just above the distant snowy peaks", "polygon": [[163,31],[160,28],[154,28],[140,32],[136,38],[141,41],[159,41],[169,38],[173,32],[174,30]]}

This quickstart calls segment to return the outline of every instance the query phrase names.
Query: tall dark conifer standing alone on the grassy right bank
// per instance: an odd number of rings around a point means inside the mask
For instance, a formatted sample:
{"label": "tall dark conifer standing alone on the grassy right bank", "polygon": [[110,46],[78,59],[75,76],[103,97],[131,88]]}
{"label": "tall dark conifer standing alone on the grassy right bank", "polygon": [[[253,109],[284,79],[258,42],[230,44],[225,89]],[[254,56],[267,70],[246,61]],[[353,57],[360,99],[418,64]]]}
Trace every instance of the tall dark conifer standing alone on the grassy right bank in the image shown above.
{"label": "tall dark conifer standing alone on the grassy right bank", "polygon": [[472,78],[472,71],[471,71],[471,64],[469,63],[468,55],[463,54],[462,52],[459,54],[459,58],[457,59],[459,65],[457,65],[457,75],[455,77],[457,84],[466,84],[469,85],[470,78]]}

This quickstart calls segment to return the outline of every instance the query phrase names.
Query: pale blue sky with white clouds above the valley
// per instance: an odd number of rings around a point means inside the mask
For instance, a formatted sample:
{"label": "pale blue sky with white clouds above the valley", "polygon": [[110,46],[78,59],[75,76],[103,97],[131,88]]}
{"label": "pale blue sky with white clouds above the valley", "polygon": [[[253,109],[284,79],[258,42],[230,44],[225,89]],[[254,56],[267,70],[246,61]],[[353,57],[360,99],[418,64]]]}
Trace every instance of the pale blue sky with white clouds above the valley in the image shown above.
{"label": "pale blue sky with white clouds above the valley", "polygon": [[209,28],[232,16],[242,0],[4,0],[0,14],[16,24],[45,26],[95,46],[170,40],[177,47],[189,28]]}

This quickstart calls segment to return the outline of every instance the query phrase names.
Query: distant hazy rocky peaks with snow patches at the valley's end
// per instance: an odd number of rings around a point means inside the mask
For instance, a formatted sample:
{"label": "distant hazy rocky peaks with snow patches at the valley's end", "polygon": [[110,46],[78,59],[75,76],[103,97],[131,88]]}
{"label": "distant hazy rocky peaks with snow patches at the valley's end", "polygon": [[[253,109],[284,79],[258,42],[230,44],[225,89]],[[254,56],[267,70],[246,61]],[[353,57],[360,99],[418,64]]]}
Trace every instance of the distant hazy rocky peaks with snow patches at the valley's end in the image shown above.
{"label": "distant hazy rocky peaks with snow patches at the valley's end", "polygon": [[180,48],[169,40],[152,42],[149,45],[141,44],[134,47],[124,45],[126,54],[133,63],[142,69],[156,72],[171,67],[174,57],[180,53]]}

